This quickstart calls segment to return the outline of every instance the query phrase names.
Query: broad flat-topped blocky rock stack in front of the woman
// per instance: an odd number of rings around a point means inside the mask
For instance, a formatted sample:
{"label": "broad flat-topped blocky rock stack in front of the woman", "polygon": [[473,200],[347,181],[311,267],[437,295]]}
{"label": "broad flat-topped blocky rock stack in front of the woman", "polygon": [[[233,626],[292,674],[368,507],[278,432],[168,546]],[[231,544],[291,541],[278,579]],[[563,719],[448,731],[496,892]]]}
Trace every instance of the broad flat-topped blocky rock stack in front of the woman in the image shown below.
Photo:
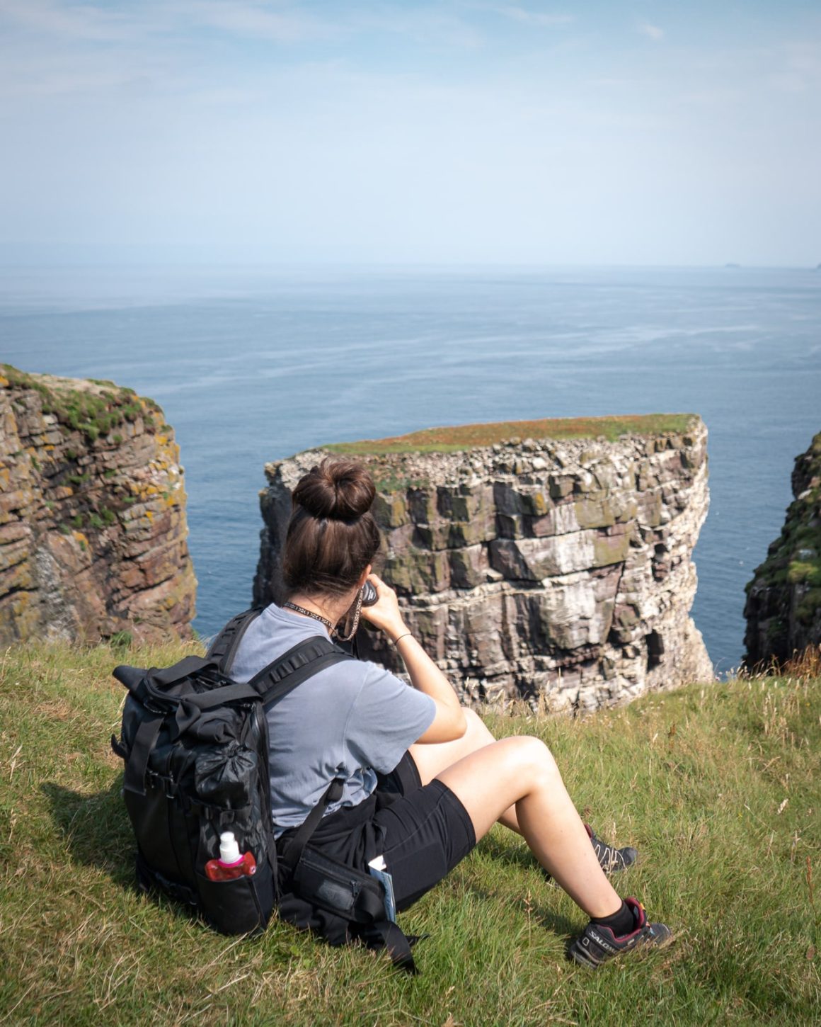
{"label": "broad flat-topped blocky rock stack in front of the woman", "polygon": [[[345,453],[377,483],[381,573],[467,699],[590,710],[712,680],[690,617],[706,436],[688,415],[514,422],[268,464],[255,598],[281,600],[292,488],[322,456]],[[400,669],[392,647],[360,636]]]}

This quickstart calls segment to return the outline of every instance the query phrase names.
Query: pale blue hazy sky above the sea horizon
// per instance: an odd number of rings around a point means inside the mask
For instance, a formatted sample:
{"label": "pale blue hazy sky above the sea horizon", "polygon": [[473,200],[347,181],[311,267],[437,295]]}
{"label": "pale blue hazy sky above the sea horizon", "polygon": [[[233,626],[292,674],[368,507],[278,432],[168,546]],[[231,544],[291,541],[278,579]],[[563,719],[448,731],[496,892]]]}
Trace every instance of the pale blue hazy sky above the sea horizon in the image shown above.
{"label": "pale blue hazy sky above the sea horizon", "polygon": [[817,0],[0,0],[0,259],[815,266]]}

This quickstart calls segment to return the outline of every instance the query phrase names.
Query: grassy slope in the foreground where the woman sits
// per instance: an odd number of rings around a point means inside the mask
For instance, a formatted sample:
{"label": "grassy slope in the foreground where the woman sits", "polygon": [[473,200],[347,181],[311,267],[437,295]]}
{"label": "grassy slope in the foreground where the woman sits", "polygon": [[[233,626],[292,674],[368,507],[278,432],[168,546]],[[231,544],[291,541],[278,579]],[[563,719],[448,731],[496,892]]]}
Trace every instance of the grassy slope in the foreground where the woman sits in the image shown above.
{"label": "grassy slope in the foreground where the woman sits", "polygon": [[121,661],[107,647],[0,656],[0,1022],[818,1023],[817,678],[693,686],[585,721],[490,718],[543,737],[599,833],[639,848],[619,890],[676,941],[595,974],[568,963],[585,917],[496,828],[402,915],[430,934],[412,979],[285,924],[222,938],[135,892],[108,743]]}

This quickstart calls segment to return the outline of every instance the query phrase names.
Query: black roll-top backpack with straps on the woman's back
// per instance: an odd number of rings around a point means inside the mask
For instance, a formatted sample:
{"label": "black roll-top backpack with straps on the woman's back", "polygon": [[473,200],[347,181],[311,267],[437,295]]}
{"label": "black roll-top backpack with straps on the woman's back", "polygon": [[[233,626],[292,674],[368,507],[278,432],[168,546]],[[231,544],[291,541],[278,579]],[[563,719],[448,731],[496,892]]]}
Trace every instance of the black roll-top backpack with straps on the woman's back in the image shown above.
{"label": "black roll-top backpack with straps on the woman's back", "polygon": [[[329,860],[308,842],[344,782],[325,794],[278,853],[271,819],[266,709],[311,675],[351,655],[317,636],[294,646],[247,684],[230,678],[248,624],[261,610],[228,622],[208,654],[148,671],[117,667],[128,689],[114,752],[123,759],[123,797],[136,836],[138,886],[188,904],[227,934],[260,931],[281,903],[283,918],[310,926],[333,944],[359,939],[387,947],[393,962],[416,973],[408,940],[387,920],[383,885]],[[211,881],[205,864],[232,831],[250,850],[256,873]]]}

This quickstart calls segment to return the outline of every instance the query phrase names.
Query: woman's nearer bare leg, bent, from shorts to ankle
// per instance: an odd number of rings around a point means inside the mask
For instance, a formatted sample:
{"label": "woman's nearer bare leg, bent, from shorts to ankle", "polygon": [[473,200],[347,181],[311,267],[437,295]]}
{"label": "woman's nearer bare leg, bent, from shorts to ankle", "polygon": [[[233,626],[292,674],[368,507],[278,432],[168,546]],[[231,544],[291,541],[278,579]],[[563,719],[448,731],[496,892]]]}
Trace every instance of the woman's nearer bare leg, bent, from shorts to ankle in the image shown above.
{"label": "woman's nearer bare leg, bent, from shorts to ankle", "polygon": [[555,760],[538,738],[502,738],[436,776],[464,805],[477,839],[514,806],[534,855],[588,916],[610,916],[621,909]]}

